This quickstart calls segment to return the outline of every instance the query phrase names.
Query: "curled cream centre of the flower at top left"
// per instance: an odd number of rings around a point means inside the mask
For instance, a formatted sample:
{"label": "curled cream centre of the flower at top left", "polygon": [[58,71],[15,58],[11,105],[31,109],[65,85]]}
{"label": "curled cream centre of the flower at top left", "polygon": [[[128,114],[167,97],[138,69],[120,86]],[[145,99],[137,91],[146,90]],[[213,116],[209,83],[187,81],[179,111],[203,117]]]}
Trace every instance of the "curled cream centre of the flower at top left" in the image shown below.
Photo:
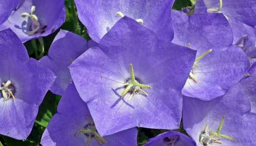
{"label": "curled cream centre of the flower at top left", "polygon": [[22,13],[22,17],[29,17],[32,21],[32,24],[31,24],[31,31],[28,31],[27,34],[28,35],[33,35],[35,34],[36,32],[39,31],[40,29],[40,22],[38,21],[38,17],[33,14],[34,11],[35,11],[35,6],[32,6],[31,9],[30,9],[30,13]]}

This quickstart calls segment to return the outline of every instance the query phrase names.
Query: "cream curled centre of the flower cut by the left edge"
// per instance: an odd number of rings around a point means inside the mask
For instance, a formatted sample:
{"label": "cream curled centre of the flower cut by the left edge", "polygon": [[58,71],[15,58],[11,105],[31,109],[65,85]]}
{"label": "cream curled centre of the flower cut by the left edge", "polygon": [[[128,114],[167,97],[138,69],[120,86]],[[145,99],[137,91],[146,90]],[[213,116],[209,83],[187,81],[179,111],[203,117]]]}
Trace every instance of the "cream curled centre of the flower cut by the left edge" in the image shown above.
{"label": "cream curled centre of the flower cut by the left edge", "polygon": [[4,100],[8,100],[9,98],[12,98],[13,101],[15,100],[15,89],[10,80],[3,82],[0,90],[2,91],[2,97]]}

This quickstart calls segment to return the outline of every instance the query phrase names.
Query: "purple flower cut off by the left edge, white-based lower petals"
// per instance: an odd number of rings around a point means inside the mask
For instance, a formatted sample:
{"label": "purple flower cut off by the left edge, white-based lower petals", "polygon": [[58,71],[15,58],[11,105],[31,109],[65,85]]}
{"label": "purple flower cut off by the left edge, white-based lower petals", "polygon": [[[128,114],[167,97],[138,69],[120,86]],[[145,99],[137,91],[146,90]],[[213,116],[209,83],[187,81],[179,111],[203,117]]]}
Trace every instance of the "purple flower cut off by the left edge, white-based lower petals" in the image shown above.
{"label": "purple flower cut off by the left edge, white-based lower petals", "polygon": [[55,76],[29,58],[22,42],[9,29],[0,32],[0,52],[0,133],[25,139]]}

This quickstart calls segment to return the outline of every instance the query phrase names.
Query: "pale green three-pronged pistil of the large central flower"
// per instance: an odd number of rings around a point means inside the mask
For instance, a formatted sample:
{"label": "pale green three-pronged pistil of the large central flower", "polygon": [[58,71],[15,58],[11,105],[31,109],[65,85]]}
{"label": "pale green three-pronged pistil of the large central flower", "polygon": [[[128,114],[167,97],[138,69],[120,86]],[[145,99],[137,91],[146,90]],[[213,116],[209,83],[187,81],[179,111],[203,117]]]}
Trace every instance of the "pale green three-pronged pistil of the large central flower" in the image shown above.
{"label": "pale green three-pronged pistil of the large central flower", "polygon": [[[121,93],[121,97],[124,97],[128,92],[131,92],[131,96],[130,98],[133,97],[133,95],[135,93],[137,93],[138,91],[141,92],[142,94],[144,94],[145,96],[148,96],[147,93],[145,91],[143,91],[142,89],[151,89],[150,85],[145,85],[142,83],[139,83],[136,79],[135,79],[135,75],[134,75],[134,70],[133,70],[133,65],[130,64],[130,69],[131,69],[131,82],[127,82],[125,83],[123,86],[126,86],[126,88],[124,89],[124,91]],[[132,91],[131,91],[132,90]]]}

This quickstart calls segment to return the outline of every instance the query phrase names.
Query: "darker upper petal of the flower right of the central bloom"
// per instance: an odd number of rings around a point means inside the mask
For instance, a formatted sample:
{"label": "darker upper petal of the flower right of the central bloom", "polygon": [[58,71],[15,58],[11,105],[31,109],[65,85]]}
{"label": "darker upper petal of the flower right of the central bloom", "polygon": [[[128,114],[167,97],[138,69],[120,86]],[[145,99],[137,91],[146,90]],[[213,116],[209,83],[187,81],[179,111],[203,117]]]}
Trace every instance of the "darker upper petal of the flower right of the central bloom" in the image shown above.
{"label": "darker upper petal of the flower right of the central bloom", "polygon": [[232,30],[222,14],[205,13],[189,17],[173,10],[172,17],[175,32],[173,43],[189,46],[200,54],[208,49],[222,49],[232,45]]}

